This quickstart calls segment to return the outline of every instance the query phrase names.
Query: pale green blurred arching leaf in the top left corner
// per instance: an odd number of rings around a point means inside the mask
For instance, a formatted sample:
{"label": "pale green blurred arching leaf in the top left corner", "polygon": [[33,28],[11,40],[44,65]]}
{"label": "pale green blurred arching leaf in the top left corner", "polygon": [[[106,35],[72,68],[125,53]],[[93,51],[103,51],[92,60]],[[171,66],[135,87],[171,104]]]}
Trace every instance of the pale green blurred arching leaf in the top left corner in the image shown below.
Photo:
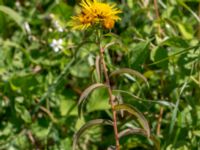
{"label": "pale green blurred arching leaf in the top left corner", "polygon": [[24,27],[23,27],[24,19],[22,16],[20,16],[16,11],[14,11],[13,9],[7,6],[0,5],[0,11],[7,14],[9,17],[11,17],[24,31]]}

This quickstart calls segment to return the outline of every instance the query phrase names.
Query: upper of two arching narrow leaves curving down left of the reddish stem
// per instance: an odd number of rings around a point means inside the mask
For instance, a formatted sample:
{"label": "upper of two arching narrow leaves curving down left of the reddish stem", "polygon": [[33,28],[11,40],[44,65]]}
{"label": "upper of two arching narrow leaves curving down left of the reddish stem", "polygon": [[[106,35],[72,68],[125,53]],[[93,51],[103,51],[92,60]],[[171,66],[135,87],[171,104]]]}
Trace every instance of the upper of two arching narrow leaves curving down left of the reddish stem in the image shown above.
{"label": "upper of two arching narrow leaves curving down left of the reddish stem", "polygon": [[84,100],[88,97],[88,95],[96,88],[99,87],[107,87],[105,84],[102,83],[96,83],[96,84],[92,84],[91,86],[89,86],[88,88],[86,88],[83,93],[81,94],[79,100],[78,100],[78,114],[80,116],[81,114],[81,110],[82,110],[82,105],[84,103]]}

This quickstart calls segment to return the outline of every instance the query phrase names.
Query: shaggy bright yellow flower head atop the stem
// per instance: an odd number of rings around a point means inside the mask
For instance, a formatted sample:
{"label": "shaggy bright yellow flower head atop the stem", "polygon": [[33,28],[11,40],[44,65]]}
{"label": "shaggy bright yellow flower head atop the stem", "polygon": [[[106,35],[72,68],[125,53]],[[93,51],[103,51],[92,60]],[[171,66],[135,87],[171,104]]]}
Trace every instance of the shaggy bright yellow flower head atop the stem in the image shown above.
{"label": "shaggy bright yellow flower head atop the stem", "polygon": [[115,8],[115,4],[105,4],[100,0],[82,0],[80,5],[81,13],[72,17],[71,25],[74,29],[84,30],[96,24],[112,29],[115,22],[120,20],[117,14],[121,11]]}

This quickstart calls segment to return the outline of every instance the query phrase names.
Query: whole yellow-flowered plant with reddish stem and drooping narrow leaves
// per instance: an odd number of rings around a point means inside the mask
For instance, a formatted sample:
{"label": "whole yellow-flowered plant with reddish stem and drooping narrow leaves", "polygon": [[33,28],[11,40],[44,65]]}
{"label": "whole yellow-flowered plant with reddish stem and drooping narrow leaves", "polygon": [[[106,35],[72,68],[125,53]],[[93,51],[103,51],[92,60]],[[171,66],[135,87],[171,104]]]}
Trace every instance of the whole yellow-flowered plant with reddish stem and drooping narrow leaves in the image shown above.
{"label": "whole yellow-flowered plant with reddish stem and drooping narrow leaves", "polygon": [[[96,74],[99,78],[99,82],[90,85],[86,88],[78,101],[79,107],[79,115],[82,114],[83,105],[85,104],[85,100],[88,98],[91,92],[96,90],[97,88],[106,88],[109,96],[109,104],[111,107],[112,112],[112,120],[108,119],[95,119],[87,122],[83,125],[74,135],[74,142],[73,142],[73,150],[76,149],[78,139],[80,135],[88,128],[95,126],[95,125],[112,125],[114,129],[114,137],[115,137],[115,148],[116,150],[120,150],[120,141],[119,138],[123,137],[127,134],[142,134],[150,139],[154,139],[150,133],[150,127],[148,121],[143,116],[143,114],[137,110],[132,105],[121,103],[119,99],[113,94],[113,89],[111,86],[110,78],[113,76],[117,76],[120,74],[129,74],[135,77],[142,79],[144,82],[147,83],[147,79],[138,71],[132,70],[129,68],[118,68],[114,70],[109,75],[109,70],[107,67],[107,62],[105,60],[105,52],[108,48],[115,44],[113,42],[110,43],[103,43],[105,41],[106,36],[103,34],[103,31],[106,32],[105,29],[112,29],[114,26],[115,21],[120,20],[117,16],[118,13],[121,13],[120,10],[116,9],[113,5],[101,3],[99,1],[82,1],[80,4],[82,6],[81,14],[72,18],[72,22],[70,25],[73,26],[74,29],[81,29],[87,30],[91,27],[93,31],[95,31],[95,44],[99,47],[99,52],[97,53],[96,59]],[[112,36],[112,35],[111,35]],[[141,128],[129,128],[125,131],[119,132],[118,129],[118,119],[117,119],[117,112],[127,111],[131,115],[135,116],[138,120],[138,123],[141,125]],[[157,144],[157,148],[159,149],[159,144]]]}

